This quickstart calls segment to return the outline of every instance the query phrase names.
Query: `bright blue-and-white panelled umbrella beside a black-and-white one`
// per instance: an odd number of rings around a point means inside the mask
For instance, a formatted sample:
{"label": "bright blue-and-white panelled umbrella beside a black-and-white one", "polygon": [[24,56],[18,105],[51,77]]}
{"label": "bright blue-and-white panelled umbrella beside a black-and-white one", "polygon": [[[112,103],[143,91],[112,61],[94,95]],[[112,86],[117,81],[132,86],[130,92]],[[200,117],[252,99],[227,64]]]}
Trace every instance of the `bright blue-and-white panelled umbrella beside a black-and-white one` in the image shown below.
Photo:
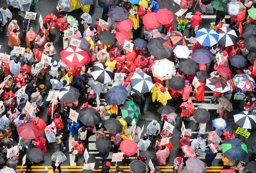
{"label": "bright blue-and-white panelled umbrella beside a black-and-white one", "polygon": [[203,46],[212,47],[218,43],[218,39],[219,35],[213,29],[202,28],[196,32],[196,40]]}

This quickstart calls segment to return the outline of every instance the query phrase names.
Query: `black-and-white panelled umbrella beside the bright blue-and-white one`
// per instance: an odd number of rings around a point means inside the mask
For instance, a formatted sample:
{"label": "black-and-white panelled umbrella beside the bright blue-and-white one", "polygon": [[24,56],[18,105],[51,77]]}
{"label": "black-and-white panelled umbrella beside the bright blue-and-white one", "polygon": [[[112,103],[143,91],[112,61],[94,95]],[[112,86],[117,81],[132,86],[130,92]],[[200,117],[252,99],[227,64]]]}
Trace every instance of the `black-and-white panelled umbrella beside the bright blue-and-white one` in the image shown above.
{"label": "black-and-white panelled umbrella beside the bright blue-and-white one", "polygon": [[217,34],[219,34],[218,44],[225,46],[225,47],[234,45],[234,42],[237,39],[235,30],[230,29],[228,27],[222,27],[222,28],[218,29],[216,32],[217,32]]}

